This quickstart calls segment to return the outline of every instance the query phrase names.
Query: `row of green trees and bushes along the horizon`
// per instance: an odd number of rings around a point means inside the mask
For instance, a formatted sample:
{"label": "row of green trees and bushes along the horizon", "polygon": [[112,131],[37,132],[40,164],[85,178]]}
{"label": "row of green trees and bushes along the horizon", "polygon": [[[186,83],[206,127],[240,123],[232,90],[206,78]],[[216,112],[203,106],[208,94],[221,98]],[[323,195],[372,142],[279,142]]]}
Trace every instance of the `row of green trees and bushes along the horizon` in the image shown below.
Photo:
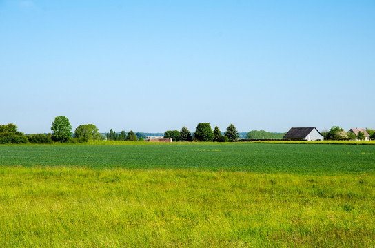
{"label": "row of green trees and bushes along the horizon", "polygon": [[[375,131],[366,128],[371,139],[375,139]],[[325,140],[351,140],[365,139],[363,132],[358,132],[356,136],[353,132],[345,132],[343,128],[333,126],[330,131],[323,131],[321,134]],[[247,138],[283,138],[285,133],[270,133],[261,131],[250,131]],[[110,130],[106,134],[100,134],[98,128],[94,124],[79,125],[74,133],[70,121],[65,116],[57,116],[54,118],[51,126],[50,134],[29,134],[25,135],[17,131],[17,126],[10,123],[8,125],[0,125],[0,144],[6,143],[84,143],[89,140],[110,140],[110,141],[144,141],[146,136],[142,133],[134,133],[132,130],[128,132],[121,131],[119,133]],[[199,123],[194,133],[191,133],[187,127],[179,130],[168,130],[164,132],[164,138],[172,138],[172,141],[214,141],[228,142],[236,141],[239,138],[239,132],[236,127],[230,124],[226,132],[222,133],[219,127],[215,126],[212,130],[210,123]]]}

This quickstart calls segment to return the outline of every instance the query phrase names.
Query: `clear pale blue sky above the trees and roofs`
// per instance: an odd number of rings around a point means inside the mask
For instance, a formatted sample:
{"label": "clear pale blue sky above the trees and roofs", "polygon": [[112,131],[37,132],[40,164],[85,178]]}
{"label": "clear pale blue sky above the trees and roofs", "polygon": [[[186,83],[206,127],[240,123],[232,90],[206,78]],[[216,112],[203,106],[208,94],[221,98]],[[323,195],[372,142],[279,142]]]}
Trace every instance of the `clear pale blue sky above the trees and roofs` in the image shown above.
{"label": "clear pale blue sky above the trees and roofs", "polygon": [[375,1],[0,0],[0,124],[375,128]]}

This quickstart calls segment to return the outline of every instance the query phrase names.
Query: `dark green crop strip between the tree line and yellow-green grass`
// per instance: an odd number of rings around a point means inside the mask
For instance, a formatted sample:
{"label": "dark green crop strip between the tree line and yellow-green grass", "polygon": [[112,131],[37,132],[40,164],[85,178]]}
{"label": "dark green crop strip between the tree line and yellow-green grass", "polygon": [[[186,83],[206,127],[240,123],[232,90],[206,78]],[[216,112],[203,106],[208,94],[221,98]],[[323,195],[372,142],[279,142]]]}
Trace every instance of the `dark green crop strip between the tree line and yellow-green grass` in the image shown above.
{"label": "dark green crop strip between the tree line and yellow-green grass", "polygon": [[0,165],[361,174],[374,171],[375,146],[269,143],[2,145]]}

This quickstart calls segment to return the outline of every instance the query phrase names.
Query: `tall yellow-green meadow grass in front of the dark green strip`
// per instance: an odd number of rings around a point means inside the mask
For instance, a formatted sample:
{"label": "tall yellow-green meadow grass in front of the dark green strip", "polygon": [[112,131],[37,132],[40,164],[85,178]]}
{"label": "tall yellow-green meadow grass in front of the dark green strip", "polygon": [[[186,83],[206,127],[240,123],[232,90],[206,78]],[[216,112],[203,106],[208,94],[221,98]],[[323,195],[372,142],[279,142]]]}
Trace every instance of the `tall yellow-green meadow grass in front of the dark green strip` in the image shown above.
{"label": "tall yellow-green meadow grass in front of the dark green strip", "polygon": [[375,175],[0,167],[0,247],[374,247]]}

